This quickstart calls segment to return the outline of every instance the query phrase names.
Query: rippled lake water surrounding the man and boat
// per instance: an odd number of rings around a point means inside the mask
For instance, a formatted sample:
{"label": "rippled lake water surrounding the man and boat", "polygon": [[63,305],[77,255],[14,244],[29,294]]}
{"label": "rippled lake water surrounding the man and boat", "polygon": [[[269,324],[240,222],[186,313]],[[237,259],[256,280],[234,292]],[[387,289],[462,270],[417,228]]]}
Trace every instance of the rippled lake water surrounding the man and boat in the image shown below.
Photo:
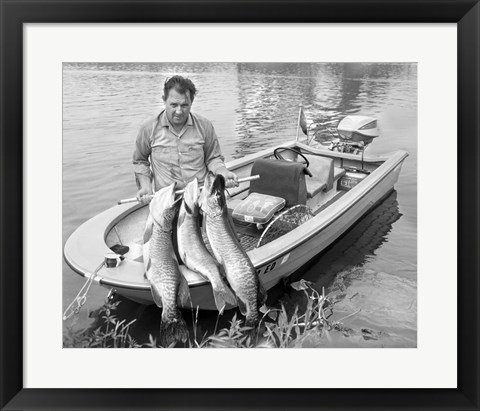
{"label": "rippled lake water surrounding the man and boat", "polygon": [[[84,221],[132,197],[131,157],[139,126],[161,110],[165,78],[190,77],[199,91],[193,111],[212,121],[229,159],[296,134],[298,105],[308,120],[332,129],[346,114],[378,119],[371,153],[404,149],[396,191],[301,273],[338,297],[334,318],[373,330],[360,346],[415,347],[417,330],[417,67],[359,63],[82,63],[63,68],[63,241]],[[84,280],[63,265],[63,307]],[[77,327],[108,290],[88,294]],[[293,306],[301,293],[274,290]],[[136,332],[158,329],[158,311],[123,302]],[[351,315],[353,314],[353,315]],[[216,318],[202,313],[205,329]],[[225,319],[223,319],[225,320]],[[354,342],[352,339],[351,341]],[[342,345],[342,344],[338,344]]]}

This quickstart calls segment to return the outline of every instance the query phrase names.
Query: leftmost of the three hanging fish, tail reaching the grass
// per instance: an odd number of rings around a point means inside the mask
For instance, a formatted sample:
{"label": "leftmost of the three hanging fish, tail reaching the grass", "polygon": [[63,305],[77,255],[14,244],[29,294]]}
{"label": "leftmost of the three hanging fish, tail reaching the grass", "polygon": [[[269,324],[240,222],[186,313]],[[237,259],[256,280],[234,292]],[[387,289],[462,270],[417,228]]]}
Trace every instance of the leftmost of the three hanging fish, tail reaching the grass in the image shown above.
{"label": "leftmost of the three hanging fish, tail reaching the grass", "polygon": [[[178,305],[188,304],[188,283],[180,272],[172,241],[174,219],[181,197],[175,199],[175,183],[157,191],[150,202],[150,214],[143,238],[145,277],[153,300],[162,308],[160,343],[164,347],[188,339],[188,328]],[[177,305],[178,304],[178,305]]]}

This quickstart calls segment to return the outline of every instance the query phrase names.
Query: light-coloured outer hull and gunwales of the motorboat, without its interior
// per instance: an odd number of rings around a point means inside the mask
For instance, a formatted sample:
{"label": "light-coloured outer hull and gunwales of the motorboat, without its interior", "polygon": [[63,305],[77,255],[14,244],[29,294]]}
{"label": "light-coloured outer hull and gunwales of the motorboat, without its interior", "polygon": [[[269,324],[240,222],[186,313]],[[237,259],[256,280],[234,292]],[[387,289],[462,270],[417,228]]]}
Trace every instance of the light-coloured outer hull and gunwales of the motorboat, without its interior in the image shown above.
{"label": "light-coloured outer hull and gunwales of the motorboat, without its interior", "polygon": [[[312,155],[330,156],[342,165],[344,162],[360,164],[358,156],[315,151],[298,142],[291,142],[289,145],[312,150]],[[287,147],[289,145],[282,144]],[[265,157],[272,151],[264,150],[258,156],[251,155],[245,159],[234,160],[227,166],[243,177],[250,174],[256,158]],[[330,190],[330,194],[321,194],[331,196],[328,200],[331,205],[325,206],[308,223],[264,246],[249,250],[248,255],[264,287],[268,290],[298,271],[387,196],[398,180],[407,155],[406,152],[399,151],[382,158],[364,159],[365,164],[370,161],[372,172],[363,182],[347,192],[339,192],[335,188]],[[242,196],[242,189],[245,191],[248,187],[239,187],[238,197]],[[236,195],[235,191],[233,195]],[[313,198],[311,204],[315,206],[316,201],[317,199]],[[103,267],[94,280],[128,299],[142,304],[153,304],[150,285],[144,278],[145,269],[141,255],[141,238],[147,213],[148,208],[145,206],[127,204],[95,216],[80,226],[67,240],[64,247],[66,262],[77,273],[89,277],[102,261],[104,254],[111,251],[109,246],[115,242],[126,243],[130,246],[130,251],[125,261],[116,268]],[[122,242],[122,238],[136,240],[128,243]],[[191,302],[184,308],[216,310],[210,283],[186,267],[180,268],[190,286]]]}

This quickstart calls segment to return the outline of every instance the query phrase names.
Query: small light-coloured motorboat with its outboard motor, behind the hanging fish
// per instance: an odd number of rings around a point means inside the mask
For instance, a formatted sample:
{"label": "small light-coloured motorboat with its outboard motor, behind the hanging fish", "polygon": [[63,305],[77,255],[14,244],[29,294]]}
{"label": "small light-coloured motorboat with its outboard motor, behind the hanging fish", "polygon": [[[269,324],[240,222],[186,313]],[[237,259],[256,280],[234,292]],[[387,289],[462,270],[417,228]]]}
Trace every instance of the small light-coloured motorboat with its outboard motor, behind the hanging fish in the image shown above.
{"label": "small light-coloured motorboat with its outboard motor, behind the hanging fish", "polygon": [[[260,176],[229,189],[228,208],[267,290],[298,272],[394,189],[408,153],[369,156],[365,148],[376,137],[375,119],[347,116],[334,138],[301,142],[297,132],[295,140],[226,164],[240,178]],[[119,295],[153,304],[142,256],[148,213],[143,204],[126,203],[94,216],[68,238],[65,261]],[[112,250],[123,256],[102,264]],[[208,280],[181,263],[180,270],[191,306],[216,310]]]}

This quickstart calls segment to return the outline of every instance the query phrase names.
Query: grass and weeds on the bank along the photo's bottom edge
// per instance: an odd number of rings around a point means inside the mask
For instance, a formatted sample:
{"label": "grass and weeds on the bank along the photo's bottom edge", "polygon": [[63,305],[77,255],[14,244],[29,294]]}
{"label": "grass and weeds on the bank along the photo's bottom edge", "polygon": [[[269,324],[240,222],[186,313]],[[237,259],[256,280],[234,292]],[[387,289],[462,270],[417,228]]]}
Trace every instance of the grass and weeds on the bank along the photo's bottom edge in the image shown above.
{"label": "grass and weeds on the bank along the photo's bottom edge", "polygon": [[[288,312],[283,304],[279,307],[262,307],[261,321],[257,329],[246,327],[244,321],[235,314],[229,325],[212,335],[198,335],[198,309],[192,310],[193,336],[185,344],[190,348],[292,348],[318,346],[322,339],[329,340],[332,331],[343,334],[348,329],[339,322],[331,322],[326,313],[332,303],[312,287],[312,283],[300,280],[291,284],[292,288],[303,292],[306,304],[302,313],[298,305]],[[137,342],[129,333],[136,321],[120,321],[115,310],[120,302],[106,303],[100,310],[103,325],[95,329],[74,330],[67,328],[63,345],[66,348],[159,348],[161,345],[150,334],[149,341]],[[291,310],[290,310],[291,311]],[[217,318],[218,324],[218,318]]]}

